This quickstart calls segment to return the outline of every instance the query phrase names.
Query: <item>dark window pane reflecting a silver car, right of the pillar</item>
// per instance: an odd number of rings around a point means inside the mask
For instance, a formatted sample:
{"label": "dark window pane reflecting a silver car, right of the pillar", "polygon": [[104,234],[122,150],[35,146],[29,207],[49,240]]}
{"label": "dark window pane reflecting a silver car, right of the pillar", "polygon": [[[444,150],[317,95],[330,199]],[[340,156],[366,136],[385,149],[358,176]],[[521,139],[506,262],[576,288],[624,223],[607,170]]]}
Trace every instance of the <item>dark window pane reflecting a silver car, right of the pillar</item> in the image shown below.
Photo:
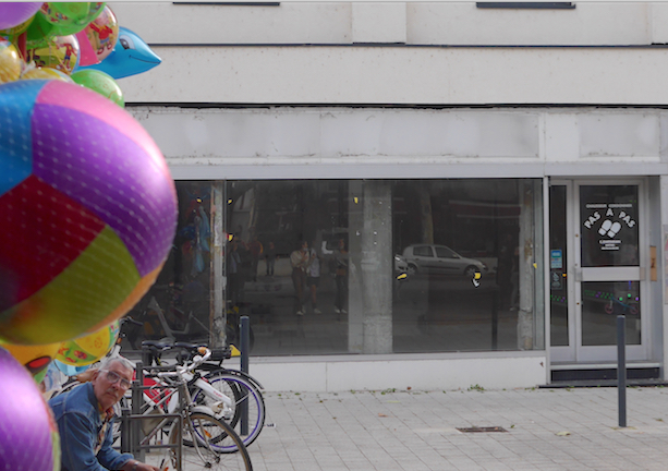
{"label": "dark window pane reflecting a silver car, right of the pillar", "polygon": [[394,290],[393,351],[543,345],[541,188],[512,179],[394,182],[393,244],[408,276]]}

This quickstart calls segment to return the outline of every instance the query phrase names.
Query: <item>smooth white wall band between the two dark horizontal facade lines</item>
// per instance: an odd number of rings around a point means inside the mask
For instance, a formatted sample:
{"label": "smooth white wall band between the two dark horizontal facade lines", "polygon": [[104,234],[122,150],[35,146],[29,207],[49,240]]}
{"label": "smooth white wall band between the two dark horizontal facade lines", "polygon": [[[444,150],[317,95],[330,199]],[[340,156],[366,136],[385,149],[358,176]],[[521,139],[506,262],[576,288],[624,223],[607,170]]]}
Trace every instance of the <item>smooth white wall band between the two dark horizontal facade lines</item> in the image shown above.
{"label": "smooth white wall band between the two dark horizontal facade lines", "polygon": [[126,102],[668,105],[668,48],[155,47]]}

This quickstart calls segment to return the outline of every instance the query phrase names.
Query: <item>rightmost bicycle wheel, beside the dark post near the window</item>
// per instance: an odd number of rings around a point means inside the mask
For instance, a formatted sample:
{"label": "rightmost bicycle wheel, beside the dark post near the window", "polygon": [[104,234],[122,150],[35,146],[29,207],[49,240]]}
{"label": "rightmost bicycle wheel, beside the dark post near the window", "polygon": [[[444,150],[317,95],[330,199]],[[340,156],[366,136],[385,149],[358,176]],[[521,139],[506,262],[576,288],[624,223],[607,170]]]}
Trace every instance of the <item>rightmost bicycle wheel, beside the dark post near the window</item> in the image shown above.
{"label": "rightmost bicycle wheel, beside the dark post near the window", "polygon": [[[216,413],[216,419],[224,420],[236,432],[245,446],[251,445],[263,430],[265,424],[265,399],[259,389],[250,381],[242,376],[236,376],[226,371],[217,371],[204,376],[204,379],[209,382],[217,390],[234,400],[233,415],[224,416],[224,412]],[[214,399],[205,394],[202,389],[195,387],[192,390],[193,402],[211,407],[217,399]],[[246,426],[242,426],[243,407],[247,408],[248,421]],[[186,446],[191,446],[187,442],[183,442]],[[224,448],[223,452],[234,451],[233,448]]]}

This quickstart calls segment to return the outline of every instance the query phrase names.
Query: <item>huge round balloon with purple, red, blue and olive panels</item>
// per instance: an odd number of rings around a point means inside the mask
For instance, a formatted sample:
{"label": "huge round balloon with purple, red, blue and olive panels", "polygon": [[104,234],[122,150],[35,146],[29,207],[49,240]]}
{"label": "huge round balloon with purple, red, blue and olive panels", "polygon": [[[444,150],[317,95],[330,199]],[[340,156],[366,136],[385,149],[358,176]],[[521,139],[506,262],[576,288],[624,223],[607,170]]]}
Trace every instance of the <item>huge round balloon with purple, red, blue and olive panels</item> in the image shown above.
{"label": "huge round balloon with purple, red, blue and olive panels", "polygon": [[0,85],[0,337],[64,341],[120,318],[174,238],[167,162],[124,109],[80,85]]}

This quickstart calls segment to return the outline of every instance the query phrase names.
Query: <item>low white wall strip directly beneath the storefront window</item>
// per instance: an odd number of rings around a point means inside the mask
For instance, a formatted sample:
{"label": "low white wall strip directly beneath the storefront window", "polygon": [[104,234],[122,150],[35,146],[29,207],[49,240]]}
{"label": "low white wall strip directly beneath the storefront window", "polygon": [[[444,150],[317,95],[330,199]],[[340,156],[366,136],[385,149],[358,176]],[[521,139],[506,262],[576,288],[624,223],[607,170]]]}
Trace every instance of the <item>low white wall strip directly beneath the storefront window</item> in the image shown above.
{"label": "low white wall strip directly beneath the storefront window", "polygon": [[454,390],[547,384],[544,352],[252,358],[250,374],[270,391]]}

